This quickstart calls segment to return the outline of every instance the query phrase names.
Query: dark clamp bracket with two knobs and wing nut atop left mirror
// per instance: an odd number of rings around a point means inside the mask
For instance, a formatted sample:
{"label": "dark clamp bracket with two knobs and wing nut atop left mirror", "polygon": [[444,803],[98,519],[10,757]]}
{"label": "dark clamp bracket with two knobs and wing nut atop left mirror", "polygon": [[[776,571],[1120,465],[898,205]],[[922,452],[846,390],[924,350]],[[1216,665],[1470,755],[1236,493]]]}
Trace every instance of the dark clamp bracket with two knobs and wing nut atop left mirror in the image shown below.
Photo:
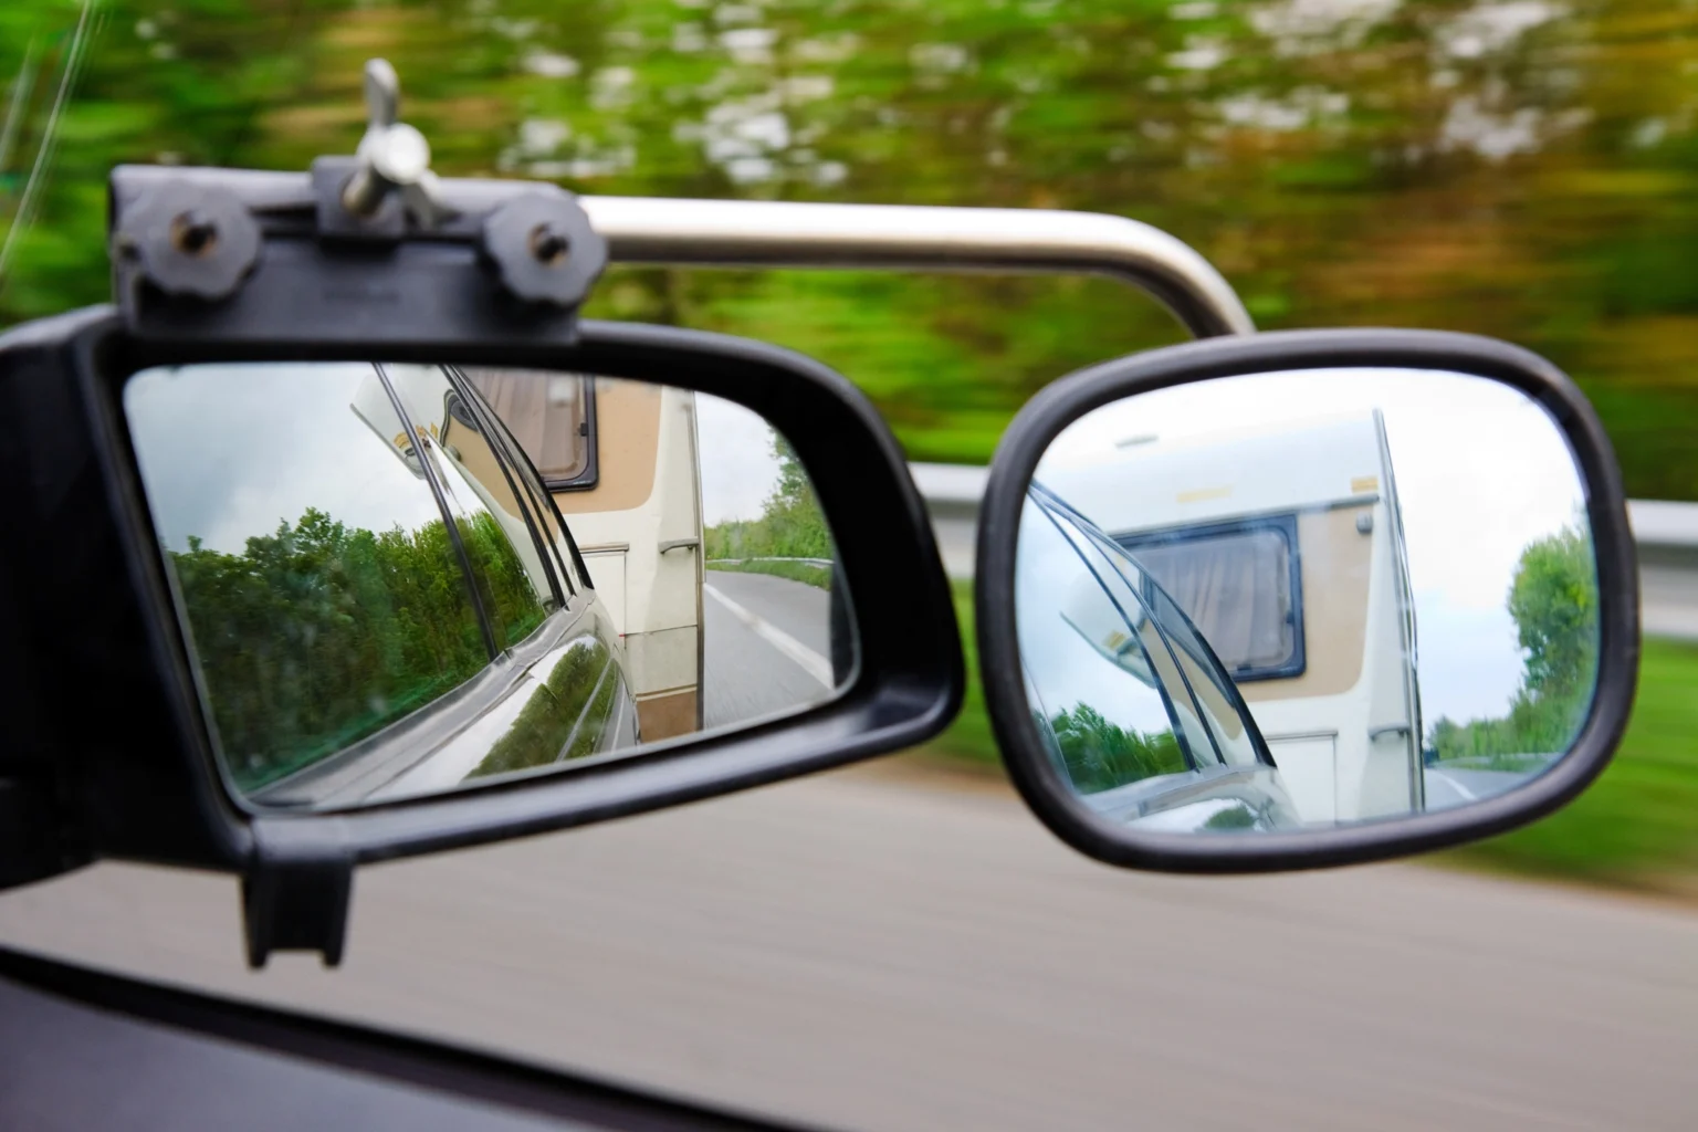
{"label": "dark clamp bracket with two knobs and wing nut atop left mirror", "polygon": [[119,166],[112,289],[139,338],[572,341],[608,244],[550,183],[436,178],[396,120],[394,68],[365,68],[353,156],[311,173]]}

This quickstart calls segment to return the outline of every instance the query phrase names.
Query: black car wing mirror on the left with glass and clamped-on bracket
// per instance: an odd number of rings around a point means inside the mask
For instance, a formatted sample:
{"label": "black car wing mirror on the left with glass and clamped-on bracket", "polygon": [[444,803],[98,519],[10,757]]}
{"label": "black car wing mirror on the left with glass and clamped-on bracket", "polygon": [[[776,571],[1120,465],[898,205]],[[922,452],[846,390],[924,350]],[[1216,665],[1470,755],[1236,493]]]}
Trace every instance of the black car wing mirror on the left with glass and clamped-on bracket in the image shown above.
{"label": "black car wing mirror on the left with glass and clamped-on bracket", "polygon": [[863,394],[579,321],[555,187],[443,178],[421,234],[338,212],[346,175],[117,170],[119,305],[0,336],[0,886],[238,872],[251,962],[336,962],[360,864],[949,723],[949,586]]}

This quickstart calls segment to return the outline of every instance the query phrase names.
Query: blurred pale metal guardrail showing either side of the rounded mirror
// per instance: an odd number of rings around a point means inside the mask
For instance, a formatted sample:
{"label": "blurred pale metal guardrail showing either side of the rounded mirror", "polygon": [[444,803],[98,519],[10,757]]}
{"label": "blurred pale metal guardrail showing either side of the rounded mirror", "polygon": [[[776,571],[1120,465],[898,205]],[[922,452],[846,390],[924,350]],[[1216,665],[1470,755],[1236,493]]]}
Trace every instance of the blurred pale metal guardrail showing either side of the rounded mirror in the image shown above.
{"label": "blurred pale metal guardrail showing either side of the rounded mirror", "polygon": [[[973,577],[978,502],[988,468],[912,463],[949,577]],[[1698,640],[1698,504],[1633,499],[1627,518],[1639,543],[1640,616],[1652,636]]]}

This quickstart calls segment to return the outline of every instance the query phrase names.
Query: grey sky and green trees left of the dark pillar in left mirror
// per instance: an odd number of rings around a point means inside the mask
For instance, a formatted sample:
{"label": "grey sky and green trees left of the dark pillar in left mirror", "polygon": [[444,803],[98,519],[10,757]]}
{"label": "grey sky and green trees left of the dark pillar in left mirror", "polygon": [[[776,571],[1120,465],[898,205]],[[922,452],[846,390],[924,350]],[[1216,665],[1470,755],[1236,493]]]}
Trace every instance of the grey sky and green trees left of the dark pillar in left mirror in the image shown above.
{"label": "grey sky and green trees left of the dark pillar in left mirror", "polygon": [[[148,370],[126,404],[239,787],[311,765],[489,664],[419,453],[374,367]],[[204,455],[204,479],[166,446]]]}

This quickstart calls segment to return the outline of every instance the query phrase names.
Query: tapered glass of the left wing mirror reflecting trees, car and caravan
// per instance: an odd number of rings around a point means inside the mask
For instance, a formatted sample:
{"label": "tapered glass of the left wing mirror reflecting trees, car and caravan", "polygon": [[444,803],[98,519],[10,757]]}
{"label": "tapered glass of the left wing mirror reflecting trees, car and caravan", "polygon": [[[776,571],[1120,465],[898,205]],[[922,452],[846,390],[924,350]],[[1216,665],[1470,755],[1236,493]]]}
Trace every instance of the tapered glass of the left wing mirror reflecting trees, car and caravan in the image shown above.
{"label": "tapered glass of the left wing mirror reflecting trees, car and caravan", "polygon": [[856,655],[813,485],[661,384],[413,363],[151,368],[124,412],[217,757],[333,810],[830,699]]}

